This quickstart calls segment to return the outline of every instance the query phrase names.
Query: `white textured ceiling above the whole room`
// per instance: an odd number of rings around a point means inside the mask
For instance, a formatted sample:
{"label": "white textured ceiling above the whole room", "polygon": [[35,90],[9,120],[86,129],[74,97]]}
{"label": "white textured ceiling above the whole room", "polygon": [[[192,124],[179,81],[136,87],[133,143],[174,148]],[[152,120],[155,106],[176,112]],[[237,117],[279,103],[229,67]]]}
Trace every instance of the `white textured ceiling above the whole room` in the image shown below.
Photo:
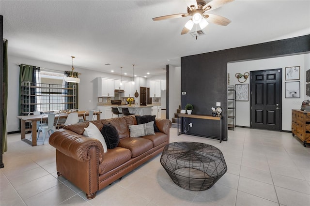
{"label": "white textured ceiling above the whole room", "polygon": [[232,23],[210,23],[197,40],[180,34],[190,17],[152,20],[186,8],[184,0],[0,1],[9,55],[68,66],[75,56],[75,67],[118,74],[120,66],[132,74],[132,64],[139,76],[164,74],[183,56],[310,34],[309,0],[235,0],[210,12]]}

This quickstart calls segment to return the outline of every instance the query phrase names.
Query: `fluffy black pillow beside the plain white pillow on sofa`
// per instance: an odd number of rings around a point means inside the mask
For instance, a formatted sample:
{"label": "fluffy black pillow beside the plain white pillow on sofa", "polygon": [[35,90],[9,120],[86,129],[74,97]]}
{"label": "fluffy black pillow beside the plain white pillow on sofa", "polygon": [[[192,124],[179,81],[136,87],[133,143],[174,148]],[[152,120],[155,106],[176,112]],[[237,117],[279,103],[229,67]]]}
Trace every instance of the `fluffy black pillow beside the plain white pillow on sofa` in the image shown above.
{"label": "fluffy black pillow beside the plain white pillow on sofa", "polygon": [[110,123],[103,125],[103,128],[100,132],[106,140],[108,149],[117,147],[118,143],[120,142],[120,136],[118,135],[113,125]]}

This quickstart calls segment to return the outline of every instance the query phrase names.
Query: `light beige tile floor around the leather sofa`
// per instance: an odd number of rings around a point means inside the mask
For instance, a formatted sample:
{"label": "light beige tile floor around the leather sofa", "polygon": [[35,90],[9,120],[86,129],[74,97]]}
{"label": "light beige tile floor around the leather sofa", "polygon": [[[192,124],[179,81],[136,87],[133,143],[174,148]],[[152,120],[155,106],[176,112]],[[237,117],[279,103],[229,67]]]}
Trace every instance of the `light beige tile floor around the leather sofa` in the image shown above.
{"label": "light beige tile floor around the leather sofa", "polygon": [[31,147],[20,134],[10,134],[0,169],[0,205],[310,206],[310,146],[303,147],[291,133],[236,128],[221,144],[177,136],[175,128],[170,134],[171,142],[195,141],[219,148],[227,173],[209,190],[187,191],[171,181],[158,155],[87,200],[84,192],[57,177],[55,148],[48,141]]}

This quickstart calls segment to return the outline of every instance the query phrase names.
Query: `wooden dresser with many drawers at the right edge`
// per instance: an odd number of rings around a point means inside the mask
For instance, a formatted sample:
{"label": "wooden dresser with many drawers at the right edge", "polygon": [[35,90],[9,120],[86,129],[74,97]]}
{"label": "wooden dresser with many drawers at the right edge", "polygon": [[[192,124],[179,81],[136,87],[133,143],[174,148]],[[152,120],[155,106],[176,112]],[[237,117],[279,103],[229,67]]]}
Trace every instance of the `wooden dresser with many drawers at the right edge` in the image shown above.
{"label": "wooden dresser with many drawers at the right edge", "polygon": [[292,109],[292,133],[304,143],[304,147],[310,143],[310,112]]}

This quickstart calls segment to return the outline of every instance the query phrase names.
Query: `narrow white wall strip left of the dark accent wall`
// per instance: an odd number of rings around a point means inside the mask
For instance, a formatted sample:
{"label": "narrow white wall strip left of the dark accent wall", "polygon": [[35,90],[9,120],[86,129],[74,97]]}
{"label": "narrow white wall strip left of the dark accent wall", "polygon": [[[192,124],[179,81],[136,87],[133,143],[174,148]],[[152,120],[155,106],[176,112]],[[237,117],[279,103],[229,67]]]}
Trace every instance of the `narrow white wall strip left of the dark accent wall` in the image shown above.
{"label": "narrow white wall strip left of the dark accent wall", "polygon": [[181,67],[169,65],[169,119],[181,105]]}

